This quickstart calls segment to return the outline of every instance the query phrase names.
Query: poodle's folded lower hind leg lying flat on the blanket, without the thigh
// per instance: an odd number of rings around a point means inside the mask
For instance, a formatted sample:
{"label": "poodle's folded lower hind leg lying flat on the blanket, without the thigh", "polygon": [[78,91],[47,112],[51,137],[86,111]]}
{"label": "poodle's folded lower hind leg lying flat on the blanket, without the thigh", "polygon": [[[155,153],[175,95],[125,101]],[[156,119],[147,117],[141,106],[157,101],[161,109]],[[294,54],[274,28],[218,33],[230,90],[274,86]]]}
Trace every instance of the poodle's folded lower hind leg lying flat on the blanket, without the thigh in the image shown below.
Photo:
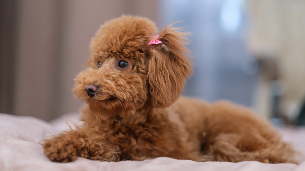
{"label": "poodle's folded lower hind leg lying flat on the blanket, without the thigh", "polygon": [[[249,142],[244,141],[242,136],[247,136],[250,141],[257,141],[257,149],[253,147],[253,150],[245,151],[243,146],[246,146]],[[275,138],[273,142],[271,141],[268,142],[262,137],[256,137],[255,135],[249,134],[220,134],[215,138],[215,143],[210,147],[210,151],[213,153],[214,161],[296,163],[290,158],[293,151],[288,144],[280,142],[279,138]],[[266,146],[260,148],[259,145],[261,143]]]}

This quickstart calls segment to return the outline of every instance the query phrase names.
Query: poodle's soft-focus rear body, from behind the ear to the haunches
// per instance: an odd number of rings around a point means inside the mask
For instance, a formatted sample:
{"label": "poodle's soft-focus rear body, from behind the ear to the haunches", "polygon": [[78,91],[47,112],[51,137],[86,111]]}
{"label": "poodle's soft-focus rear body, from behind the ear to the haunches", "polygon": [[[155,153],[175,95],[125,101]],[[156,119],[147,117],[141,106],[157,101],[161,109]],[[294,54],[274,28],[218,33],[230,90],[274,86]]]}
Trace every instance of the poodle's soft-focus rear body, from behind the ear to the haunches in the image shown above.
{"label": "poodle's soft-focus rear body, from behind the ear to the haunches", "polygon": [[214,161],[296,163],[290,145],[249,108],[228,101],[207,103],[181,97],[168,110],[185,123],[194,150]]}

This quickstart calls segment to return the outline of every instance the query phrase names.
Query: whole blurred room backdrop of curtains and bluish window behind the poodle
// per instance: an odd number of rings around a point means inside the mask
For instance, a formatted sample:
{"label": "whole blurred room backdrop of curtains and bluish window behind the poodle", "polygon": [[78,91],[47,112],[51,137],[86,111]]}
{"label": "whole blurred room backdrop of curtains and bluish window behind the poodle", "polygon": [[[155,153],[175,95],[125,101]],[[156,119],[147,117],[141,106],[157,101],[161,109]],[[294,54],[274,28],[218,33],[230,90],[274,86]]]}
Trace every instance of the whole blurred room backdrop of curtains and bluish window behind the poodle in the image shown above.
{"label": "whole blurred room backdrop of curtains and bluish window behind the poodle", "polygon": [[304,0],[2,0],[0,112],[52,120],[78,112],[71,89],[101,24],[122,14],[191,32],[184,92],[305,124]]}

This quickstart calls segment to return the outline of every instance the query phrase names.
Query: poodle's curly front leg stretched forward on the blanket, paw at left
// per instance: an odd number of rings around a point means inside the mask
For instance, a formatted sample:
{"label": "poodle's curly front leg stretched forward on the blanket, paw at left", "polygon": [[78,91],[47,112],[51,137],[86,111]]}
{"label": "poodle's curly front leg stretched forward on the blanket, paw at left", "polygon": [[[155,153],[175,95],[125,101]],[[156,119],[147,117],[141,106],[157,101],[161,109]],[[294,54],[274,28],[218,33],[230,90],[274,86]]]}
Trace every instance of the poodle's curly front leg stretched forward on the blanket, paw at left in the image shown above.
{"label": "poodle's curly front leg stretched forward on the blanket, paw at left", "polygon": [[70,162],[78,156],[99,161],[119,161],[117,149],[105,141],[95,139],[94,134],[85,131],[70,130],[43,144],[45,155],[53,162]]}

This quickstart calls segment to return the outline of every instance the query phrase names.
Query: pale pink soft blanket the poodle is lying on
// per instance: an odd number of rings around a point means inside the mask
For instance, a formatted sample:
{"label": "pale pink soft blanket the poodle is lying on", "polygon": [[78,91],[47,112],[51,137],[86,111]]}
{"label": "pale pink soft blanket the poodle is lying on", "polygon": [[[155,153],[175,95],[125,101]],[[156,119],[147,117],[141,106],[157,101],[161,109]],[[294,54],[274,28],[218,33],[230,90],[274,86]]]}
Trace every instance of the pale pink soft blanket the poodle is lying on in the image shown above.
{"label": "pale pink soft blanket the poodle is lying on", "polygon": [[[67,115],[67,119],[77,120],[79,115]],[[234,171],[304,171],[305,162],[295,164],[264,164],[259,162],[194,162],[190,160],[176,160],[160,157],[142,162],[99,162],[84,158],[77,158],[75,162],[51,162],[44,154],[39,144],[51,134],[66,130],[64,117],[47,123],[33,117],[17,117],[0,114],[0,171],[6,170],[50,170],[50,171],[78,171],[78,170],[234,170]],[[305,129],[282,129],[285,141],[292,141],[292,145],[305,154]]]}

